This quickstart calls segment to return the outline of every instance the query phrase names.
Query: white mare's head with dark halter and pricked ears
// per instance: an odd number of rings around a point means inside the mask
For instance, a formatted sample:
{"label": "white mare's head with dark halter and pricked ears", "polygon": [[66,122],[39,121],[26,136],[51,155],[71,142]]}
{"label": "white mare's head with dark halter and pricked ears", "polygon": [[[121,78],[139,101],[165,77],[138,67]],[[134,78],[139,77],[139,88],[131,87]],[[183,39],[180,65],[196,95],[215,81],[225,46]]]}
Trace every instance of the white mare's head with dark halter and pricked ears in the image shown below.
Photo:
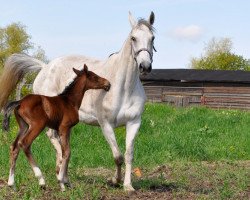
{"label": "white mare's head with dark halter and pricked ears", "polygon": [[132,52],[142,74],[149,73],[152,70],[153,50],[155,50],[154,20],[153,12],[151,12],[148,20],[139,19],[138,21],[129,13],[129,21],[132,26],[130,33]]}

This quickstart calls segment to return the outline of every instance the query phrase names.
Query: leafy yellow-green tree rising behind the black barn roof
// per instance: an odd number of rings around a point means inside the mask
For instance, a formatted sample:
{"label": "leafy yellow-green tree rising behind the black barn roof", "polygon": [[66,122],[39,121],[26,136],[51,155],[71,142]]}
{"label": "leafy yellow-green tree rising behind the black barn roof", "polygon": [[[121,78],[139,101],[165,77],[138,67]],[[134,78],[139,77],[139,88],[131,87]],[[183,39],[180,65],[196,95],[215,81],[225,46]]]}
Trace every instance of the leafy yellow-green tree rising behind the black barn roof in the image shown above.
{"label": "leafy yellow-green tree rising behind the black barn roof", "polygon": [[250,70],[247,59],[232,53],[233,43],[229,38],[213,38],[206,44],[204,56],[192,58],[190,66],[193,69],[211,70]]}

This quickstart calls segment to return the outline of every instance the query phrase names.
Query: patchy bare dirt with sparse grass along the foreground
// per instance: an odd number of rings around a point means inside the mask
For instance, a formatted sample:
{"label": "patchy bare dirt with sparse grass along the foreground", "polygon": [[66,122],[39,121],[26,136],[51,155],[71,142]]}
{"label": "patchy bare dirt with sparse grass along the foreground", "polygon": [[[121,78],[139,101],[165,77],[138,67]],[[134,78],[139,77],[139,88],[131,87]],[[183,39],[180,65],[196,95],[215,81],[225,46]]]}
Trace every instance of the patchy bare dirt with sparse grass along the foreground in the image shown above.
{"label": "patchy bare dirt with sparse grass along the foreground", "polygon": [[[39,190],[36,199],[250,199],[250,161],[240,162],[176,162],[154,169],[139,168],[140,175],[133,173],[135,192],[128,194],[122,185],[111,187],[107,181],[114,170],[105,168],[81,168],[74,171],[73,188],[61,193],[55,184]],[[137,169],[138,170],[138,169]],[[123,171],[124,174],[124,171]],[[35,179],[35,184],[37,180]],[[0,179],[0,189],[7,183]],[[27,195],[30,186],[23,185],[14,196]],[[1,191],[1,190],[0,190]],[[33,197],[34,189],[28,191]],[[11,199],[9,192],[4,199]]]}

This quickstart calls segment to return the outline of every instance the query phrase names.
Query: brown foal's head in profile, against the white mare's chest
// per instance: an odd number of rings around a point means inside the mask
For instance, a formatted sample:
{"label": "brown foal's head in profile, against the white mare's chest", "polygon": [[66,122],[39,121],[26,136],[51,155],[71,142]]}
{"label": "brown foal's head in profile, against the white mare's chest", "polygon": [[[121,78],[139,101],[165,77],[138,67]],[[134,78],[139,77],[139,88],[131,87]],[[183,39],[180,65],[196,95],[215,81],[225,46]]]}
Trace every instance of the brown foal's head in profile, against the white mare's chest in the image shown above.
{"label": "brown foal's head in profile, against the white mare's chest", "polygon": [[92,71],[89,71],[86,64],[84,64],[83,70],[73,68],[73,71],[76,73],[78,78],[82,79],[83,83],[81,84],[85,84],[84,90],[104,89],[105,91],[109,91],[111,87],[108,80],[98,76]]}

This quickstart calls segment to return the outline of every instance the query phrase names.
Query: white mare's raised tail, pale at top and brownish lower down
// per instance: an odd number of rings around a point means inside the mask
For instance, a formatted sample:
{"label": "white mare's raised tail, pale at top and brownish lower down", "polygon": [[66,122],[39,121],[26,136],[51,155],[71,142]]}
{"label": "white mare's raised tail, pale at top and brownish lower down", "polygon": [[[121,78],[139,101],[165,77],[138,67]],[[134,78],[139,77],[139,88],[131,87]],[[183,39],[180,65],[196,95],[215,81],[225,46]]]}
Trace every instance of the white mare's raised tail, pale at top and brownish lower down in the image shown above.
{"label": "white mare's raised tail, pale at top and brownish lower down", "polygon": [[45,63],[25,54],[13,54],[5,62],[0,77],[0,111],[19,80],[30,71],[39,71]]}

